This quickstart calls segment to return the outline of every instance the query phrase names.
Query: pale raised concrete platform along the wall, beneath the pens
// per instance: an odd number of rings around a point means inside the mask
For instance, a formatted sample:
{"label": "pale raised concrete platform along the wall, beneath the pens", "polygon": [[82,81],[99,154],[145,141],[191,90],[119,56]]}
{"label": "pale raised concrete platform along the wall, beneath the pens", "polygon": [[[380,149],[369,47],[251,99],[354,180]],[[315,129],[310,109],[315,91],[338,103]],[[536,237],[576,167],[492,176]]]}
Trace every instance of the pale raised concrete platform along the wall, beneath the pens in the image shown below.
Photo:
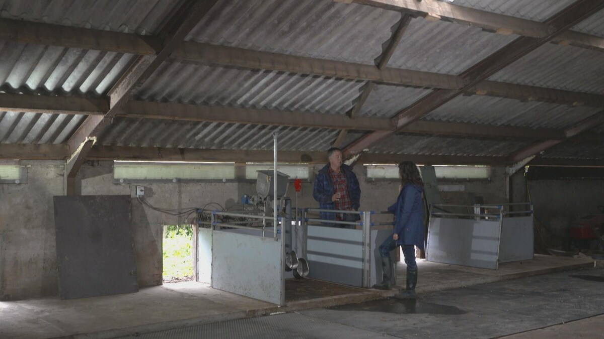
{"label": "pale raised concrete platform along the wall, beneath the pens", "polygon": [[[486,284],[536,274],[594,267],[593,259],[535,256],[501,264],[499,270],[419,262],[419,294]],[[405,265],[397,267],[404,285]],[[352,293],[351,293],[352,292]],[[347,290],[347,294],[270,303],[213,290],[194,282],[143,288],[138,293],[60,300],[58,297],[0,302],[0,338],[114,338],[275,312],[321,308],[391,296],[395,291]]]}

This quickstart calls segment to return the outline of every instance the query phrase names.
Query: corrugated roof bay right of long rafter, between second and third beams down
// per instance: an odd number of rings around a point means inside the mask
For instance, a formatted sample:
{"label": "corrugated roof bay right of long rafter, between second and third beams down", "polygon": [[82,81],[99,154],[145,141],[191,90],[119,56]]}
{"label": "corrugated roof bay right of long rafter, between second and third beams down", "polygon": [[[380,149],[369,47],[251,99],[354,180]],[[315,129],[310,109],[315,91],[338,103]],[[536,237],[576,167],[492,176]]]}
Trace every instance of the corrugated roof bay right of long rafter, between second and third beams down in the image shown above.
{"label": "corrugated roof bay right of long rafter, between second and third beams down", "polygon": [[424,120],[565,129],[600,112],[594,107],[571,107],[537,101],[460,95],[428,113]]}

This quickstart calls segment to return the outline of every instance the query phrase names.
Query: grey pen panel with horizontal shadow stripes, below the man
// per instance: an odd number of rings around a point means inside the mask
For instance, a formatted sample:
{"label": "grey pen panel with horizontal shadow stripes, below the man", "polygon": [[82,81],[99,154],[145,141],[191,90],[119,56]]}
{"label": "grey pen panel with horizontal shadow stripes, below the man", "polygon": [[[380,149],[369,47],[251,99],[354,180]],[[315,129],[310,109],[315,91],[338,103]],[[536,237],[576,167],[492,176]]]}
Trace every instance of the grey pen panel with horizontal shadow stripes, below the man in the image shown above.
{"label": "grey pen panel with horizontal shadow stripes, below the man", "polygon": [[309,277],[362,287],[363,231],[308,226]]}

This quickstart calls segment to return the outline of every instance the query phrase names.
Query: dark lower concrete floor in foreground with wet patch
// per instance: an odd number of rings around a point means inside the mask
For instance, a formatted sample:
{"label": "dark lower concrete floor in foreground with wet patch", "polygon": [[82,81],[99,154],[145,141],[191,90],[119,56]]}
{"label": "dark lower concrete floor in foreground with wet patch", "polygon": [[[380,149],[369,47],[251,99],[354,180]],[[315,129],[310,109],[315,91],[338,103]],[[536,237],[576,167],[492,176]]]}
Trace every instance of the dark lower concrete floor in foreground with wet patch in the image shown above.
{"label": "dark lower concrete floor in foreground with wet patch", "polygon": [[[604,268],[541,274],[423,294],[189,326],[137,339],[491,339],[505,335],[602,337],[604,323],[557,326],[604,314]],[[556,328],[551,329],[551,326]],[[535,331],[541,329],[541,331]],[[531,333],[532,332],[532,333]],[[133,337],[123,337],[123,339]]]}

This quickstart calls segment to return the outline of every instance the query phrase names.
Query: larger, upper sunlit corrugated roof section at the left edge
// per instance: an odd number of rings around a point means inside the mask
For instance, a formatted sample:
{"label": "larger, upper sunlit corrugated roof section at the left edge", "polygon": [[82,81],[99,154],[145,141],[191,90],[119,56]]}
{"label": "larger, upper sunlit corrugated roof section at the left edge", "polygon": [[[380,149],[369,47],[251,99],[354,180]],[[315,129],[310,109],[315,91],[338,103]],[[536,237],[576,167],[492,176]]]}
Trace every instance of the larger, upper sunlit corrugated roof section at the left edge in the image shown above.
{"label": "larger, upper sunlit corrugated roof section at the left edge", "polygon": [[132,54],[0,40],[0,89],[104,95],[133,58]]}

